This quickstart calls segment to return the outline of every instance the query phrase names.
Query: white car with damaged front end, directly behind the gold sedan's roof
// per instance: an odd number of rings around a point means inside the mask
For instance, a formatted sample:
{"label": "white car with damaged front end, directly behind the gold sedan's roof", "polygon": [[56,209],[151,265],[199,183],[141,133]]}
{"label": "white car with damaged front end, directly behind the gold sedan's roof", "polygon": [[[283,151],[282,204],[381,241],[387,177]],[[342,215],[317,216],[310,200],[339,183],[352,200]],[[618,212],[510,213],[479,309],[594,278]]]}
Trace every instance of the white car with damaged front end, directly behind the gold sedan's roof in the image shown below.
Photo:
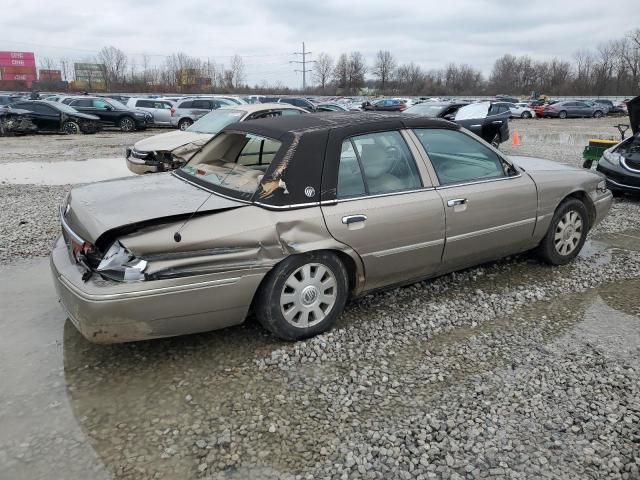
{"label": "white car with damaged front end, directly behind the gold sedan's roof", "polygon": [[137,174],[174,170],[186,163],[202,145],[231,123],[303,113],[307,111],[287,103],[220,107],[184,130],[161,133],[136,142],[133,147],[127,148],[127,167]]}

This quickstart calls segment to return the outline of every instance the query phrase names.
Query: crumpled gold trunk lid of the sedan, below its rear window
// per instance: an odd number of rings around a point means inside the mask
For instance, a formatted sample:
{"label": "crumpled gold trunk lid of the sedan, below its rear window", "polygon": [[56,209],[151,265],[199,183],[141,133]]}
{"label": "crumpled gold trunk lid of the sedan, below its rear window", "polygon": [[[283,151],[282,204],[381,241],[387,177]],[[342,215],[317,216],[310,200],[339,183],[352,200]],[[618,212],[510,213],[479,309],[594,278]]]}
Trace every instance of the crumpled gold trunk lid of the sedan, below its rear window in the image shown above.
{"label": "crumpled gold trunk lid of the sedan, below its rear window", "polygon": [[96,244],[105,233],[163,218],[244,206],[202,190],[171,173],[126,177],[76,187],[62,213],[83,240]]}

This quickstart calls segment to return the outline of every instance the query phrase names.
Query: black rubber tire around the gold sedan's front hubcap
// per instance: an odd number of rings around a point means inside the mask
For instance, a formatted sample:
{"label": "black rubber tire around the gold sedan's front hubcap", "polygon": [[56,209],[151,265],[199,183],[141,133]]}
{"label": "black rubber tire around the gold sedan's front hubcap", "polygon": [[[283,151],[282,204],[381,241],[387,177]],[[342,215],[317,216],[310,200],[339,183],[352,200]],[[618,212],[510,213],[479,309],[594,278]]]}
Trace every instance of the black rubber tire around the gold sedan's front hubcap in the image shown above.
{"label": "black rubber tire around the gold sedan's front hubcap", "polygon": [[[559,242],[564,241],[564,237],[561,240],[556,239],[556,235],[559,235],[561,231],[560,222],[563,221],[567,215],[574,213],[579,216],[581,221],[581,232],[580,239],[575,243],[573,249],[566,254],[561,253],[562,247],[560,249],[556,246]],[[577,231],[577,229],[575,230]],[[584,245],[584,242],[587,239],[587,234],[589,233],[589,212],[587,211],[587,207],[584,203],[582,203],[577,198],[569,198],[563,201],[560,206],[556,209],[553,214],[553,218],[551,219],[551,224],[549,225],[549,230],[547,234],[540,242],[538,246],[537,253],[540,258],[550,265],[566,265],[571,262]]]}

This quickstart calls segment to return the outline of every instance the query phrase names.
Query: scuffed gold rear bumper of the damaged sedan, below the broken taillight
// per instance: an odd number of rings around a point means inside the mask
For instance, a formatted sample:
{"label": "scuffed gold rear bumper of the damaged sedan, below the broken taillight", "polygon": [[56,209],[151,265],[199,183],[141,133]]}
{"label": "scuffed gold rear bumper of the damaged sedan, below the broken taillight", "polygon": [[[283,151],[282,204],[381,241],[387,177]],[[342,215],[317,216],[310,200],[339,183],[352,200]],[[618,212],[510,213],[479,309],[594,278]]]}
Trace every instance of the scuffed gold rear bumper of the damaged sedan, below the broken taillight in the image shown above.
{"label": "scuffed gold rear bumper of the damaged sedan, below the broken taillight", "polygon": [[242,323],[265,274],[244,270],[135,283],[94,275],[85,282],[62,237],[50,264],[62,307],[94,343],[185,335]]}

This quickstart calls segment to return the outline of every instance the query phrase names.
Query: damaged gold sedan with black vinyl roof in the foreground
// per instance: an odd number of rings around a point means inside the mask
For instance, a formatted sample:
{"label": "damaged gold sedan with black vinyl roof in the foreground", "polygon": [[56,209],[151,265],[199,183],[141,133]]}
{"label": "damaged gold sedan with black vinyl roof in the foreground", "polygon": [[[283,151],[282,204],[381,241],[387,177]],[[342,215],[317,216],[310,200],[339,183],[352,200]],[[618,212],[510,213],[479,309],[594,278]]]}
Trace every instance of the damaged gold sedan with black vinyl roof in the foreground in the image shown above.
{"label": "damaged gold sedan with black vinyl roof in the foreground", "polygon": [[572,260],[607,213],[593,172],[507,158],[443,120],[331,113],[236,123],[174,172],[74,188],[51,254],[93,342],[237,325],[284,339],[350,296],[537,248]]}

